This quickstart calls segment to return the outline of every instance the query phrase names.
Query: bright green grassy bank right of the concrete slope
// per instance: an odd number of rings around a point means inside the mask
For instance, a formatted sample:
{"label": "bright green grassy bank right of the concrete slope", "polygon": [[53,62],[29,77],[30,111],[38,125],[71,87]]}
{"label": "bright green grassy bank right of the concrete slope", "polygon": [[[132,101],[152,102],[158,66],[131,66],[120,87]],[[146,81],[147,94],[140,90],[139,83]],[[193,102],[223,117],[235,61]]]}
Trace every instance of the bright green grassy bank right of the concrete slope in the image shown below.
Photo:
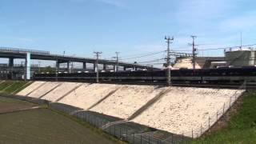
{"label": "bright green grassy bank right of the concrete slope", "polygon": [[245,94],[242,105],[225,128],[194,143],[256,143],[256,91]]}

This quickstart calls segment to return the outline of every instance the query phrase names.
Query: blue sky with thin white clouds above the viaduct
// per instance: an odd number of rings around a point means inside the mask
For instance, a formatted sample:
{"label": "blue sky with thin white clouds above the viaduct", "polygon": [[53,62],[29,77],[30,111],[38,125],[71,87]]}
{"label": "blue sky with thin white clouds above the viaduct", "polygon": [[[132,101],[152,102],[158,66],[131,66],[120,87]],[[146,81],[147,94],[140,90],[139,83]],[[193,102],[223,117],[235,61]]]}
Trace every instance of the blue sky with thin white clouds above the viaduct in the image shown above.
{"label": "blue sky with thin white clouds above the viaduct", "polygon": [[165,50],[165,35],[174,36],[173,50],[190,50],[191,34],[198,49],[207,49],[237,46],[241,32],[246,45],[256,43],[255,6],[253,0],[0,0],[0,46],[83,57],[98,50],[102,58],[119,51],[129,58]]}

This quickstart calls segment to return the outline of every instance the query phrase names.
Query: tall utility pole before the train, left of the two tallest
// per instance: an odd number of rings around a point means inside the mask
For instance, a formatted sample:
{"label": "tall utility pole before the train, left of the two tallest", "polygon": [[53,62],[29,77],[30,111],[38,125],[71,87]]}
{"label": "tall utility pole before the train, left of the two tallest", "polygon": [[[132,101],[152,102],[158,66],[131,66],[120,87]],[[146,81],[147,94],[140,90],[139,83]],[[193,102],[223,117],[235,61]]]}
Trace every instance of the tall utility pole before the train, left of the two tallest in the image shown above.
{"label": "tall utility pole before the train, left of the two tallest", "polygon": [[171,78],[170,78],[170,43],[174,41],[174,37],[165,37],[165,40],[167,42],[167,58],[166,58],[166,64],[167,64],[167,85],[171,85]]}

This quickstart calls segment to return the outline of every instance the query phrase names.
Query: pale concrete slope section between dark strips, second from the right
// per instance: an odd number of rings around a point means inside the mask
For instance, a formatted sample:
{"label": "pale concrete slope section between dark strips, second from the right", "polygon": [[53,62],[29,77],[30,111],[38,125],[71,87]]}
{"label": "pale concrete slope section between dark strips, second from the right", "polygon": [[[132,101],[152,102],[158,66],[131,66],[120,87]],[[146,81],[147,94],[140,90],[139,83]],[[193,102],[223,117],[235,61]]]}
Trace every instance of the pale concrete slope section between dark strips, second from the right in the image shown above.
{"label": "pale concrete slope section between dark strips, second from the right", "polygon": [[126,119],[161,91],[156,86],[122,86],[92,111]]}

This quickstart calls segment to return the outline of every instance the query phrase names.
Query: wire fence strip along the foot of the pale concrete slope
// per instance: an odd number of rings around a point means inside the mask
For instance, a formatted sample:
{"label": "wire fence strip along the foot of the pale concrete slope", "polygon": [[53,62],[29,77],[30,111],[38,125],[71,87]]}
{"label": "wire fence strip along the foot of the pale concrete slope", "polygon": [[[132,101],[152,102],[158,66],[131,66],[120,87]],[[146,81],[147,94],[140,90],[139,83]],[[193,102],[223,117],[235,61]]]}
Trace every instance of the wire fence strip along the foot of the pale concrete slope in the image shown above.
{"label": "wire fence strip along the foot of the pale concrete slope", "polygon": [[134,130],[130,126],[124,125],[125,121],[116,122],[114,119],[102,116],[102,114],[97,114],[92,111],[84,111],[72,106],[66,106],[61,103],[49,103],[49,107],[54,110],[60,110],[66,114],[73,115],[76,118],[80,118],[85,122],[90,123],[90,125],[97,127],[105,131],[108,134],[113,135],[125,142],[138,143],[138,144],[158,144],[158,143],[187,143],[187,138],[183,136],[177,136],[172,134],[170,138],[159,139],[154,138],[154,135],[149,133],[140,133],[138,130]]}

